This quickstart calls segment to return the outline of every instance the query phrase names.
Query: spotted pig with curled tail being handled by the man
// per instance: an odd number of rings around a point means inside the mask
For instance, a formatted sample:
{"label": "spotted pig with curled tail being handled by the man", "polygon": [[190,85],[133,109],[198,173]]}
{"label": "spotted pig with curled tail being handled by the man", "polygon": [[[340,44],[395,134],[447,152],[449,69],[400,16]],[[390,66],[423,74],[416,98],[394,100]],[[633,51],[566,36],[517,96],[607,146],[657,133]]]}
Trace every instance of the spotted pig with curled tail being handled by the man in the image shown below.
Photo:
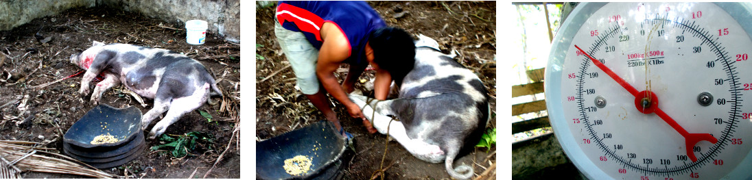
{"label": "spotted pig with curled tail being handled by the man", "polygon": [[[472,178],[467,165],[453,169],[461,148],[478,143],[489,118],[487,90],[481,80],[438,51],[438,43],[422,34],[416,41],[415,66],[399,88],[398,98],[371,101],[350,95],[380,133],[387,133],[420,160],[444,161],[453,178]],[[371,113],[374,112],[374,117]],[[387,115],[400,121],[392,121]]]}

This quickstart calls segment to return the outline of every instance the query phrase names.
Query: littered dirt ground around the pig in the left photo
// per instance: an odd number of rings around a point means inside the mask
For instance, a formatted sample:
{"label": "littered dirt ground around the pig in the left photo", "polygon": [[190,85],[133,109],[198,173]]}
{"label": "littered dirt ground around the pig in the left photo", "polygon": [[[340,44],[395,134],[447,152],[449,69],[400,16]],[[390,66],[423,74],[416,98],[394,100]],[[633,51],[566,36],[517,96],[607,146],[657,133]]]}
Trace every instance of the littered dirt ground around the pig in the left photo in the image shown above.
{"label": "littered dirt ground around the pig in the left photo", "polygon": [[[69,63],[68,58],[76,49],[87,49],[92,40],[159,47],[183,52],[199,60],[214,74],[224,95],[223,98],[214,98],[214,101],[220,101],[219,104],[199,108],[210,113],[213,122],[194,111],[183,115],[165,133],[209,133],[214,136],[214,142],[199,145],[200,148],[189,151],[190,155],[182,158],[171,157],[166,151],[147,149],[129,163],[103,170],[123,178],[126,173],[128,178],[189,178],[193,172],[194,178],[240,178],[239,133],[233,133],[240,119],[240,46],[211,33],[208,33],[204,45],[193,46],[185,43],[183,29],[182,24],[96,7],[71,9],[33,20],[11,31],[0,31],[0,52],[5,54],[0,54],[3,71],[0,75],[0,139],[44,142],[48,147],[62,151],[63,133],[94,106],[89,104],[89,96],[84,101],[77,94],[81,75],[46,87],[35,86],[80,71]],[[120,89],[122,87],[117,86],[105,92],[100,104],[134,106],[142,113],[151,109],[151,100],[146,100],[147,107],[141,107]],[[230,142],[232,136],[235,139]],[[157,140],[147,140],[147,147],[160,144]],[[228,145],[222,160],[205,176]],[[82,177],[41,172],[23,175],[25,178]]]}

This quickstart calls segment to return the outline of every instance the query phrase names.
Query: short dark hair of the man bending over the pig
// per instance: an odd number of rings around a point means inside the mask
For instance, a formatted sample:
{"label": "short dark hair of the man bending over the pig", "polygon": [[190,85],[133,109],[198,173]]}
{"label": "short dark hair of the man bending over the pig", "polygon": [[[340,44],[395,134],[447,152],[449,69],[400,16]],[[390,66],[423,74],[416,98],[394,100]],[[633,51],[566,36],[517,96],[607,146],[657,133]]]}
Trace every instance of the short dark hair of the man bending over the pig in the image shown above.
{"label": "short dark hair of the man bending over the pig", "polygon": [[374,63],[389,71],[397,86],[402,86],[402,79],[413,70],[415,65],[415,43],[413,37],[402,28],[378,28],[368,43],[374,50]]}

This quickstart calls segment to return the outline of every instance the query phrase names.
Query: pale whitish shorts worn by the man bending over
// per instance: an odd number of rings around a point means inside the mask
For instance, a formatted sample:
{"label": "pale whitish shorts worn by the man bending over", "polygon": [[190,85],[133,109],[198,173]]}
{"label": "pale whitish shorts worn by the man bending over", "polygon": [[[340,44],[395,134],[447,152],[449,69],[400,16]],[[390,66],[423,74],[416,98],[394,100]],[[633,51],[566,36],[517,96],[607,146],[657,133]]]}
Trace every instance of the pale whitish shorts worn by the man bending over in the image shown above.
{"label": "pale whitish shorts worn by the man bending over", "polygon": [[319,92],[319,79],[316,76],[316,62],[319,59],[319,49],[316,49],[302,32],[290,31],[280,26],[274,20],[274,35],[282,47],[282,52],[287,56],[290,67],[293,68],[297,78],[297,85],[305,95],[313,95]]}

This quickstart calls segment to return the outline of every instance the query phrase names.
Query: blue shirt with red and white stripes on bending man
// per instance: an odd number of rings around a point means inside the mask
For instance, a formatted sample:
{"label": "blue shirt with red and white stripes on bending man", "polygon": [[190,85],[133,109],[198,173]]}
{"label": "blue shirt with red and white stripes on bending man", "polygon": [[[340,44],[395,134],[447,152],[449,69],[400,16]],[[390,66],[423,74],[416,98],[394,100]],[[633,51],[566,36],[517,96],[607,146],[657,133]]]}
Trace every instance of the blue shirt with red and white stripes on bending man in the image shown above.
{"label": "blue shirt with red and white stripes on bending man", "polygon": [[365,1],[279,1],[276,17],[290,31],[300,31],[316,49],[321,49],[321,26],[337,26],[350,43],[347,63],[365,62],[365,43],[377,28],[386,27],[376,10]]}

